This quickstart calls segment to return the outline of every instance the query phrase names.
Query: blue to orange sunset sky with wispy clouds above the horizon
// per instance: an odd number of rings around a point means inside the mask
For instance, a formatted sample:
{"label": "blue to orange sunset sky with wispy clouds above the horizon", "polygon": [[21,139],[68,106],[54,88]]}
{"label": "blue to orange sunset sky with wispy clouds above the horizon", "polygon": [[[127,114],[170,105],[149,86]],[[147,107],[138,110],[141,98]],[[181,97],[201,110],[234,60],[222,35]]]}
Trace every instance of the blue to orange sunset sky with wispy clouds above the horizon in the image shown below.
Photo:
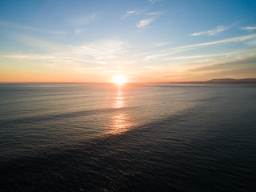
{"label": "blue to orange sunset sky with wispy clouds above the horizon", "polygon": [[1,0],[0,82],[256,78],[256,1]]}

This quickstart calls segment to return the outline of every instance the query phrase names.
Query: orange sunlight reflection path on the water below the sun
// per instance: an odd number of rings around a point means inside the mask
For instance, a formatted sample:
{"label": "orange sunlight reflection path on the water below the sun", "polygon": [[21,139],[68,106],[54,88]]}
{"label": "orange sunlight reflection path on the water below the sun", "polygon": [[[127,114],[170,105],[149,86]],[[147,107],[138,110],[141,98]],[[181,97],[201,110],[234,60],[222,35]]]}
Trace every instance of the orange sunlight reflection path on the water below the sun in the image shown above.
{"label": "orange sunlight reflection path on the water below the sun", "polygon": [[[124,87],[118,86],[117,93],[115,94],[115,109],[121,109],[126,106],[122,88]],[[126,114],[123,110],[117,110],[117,113],[110,117],[108,134],[122,134],[123,132],[130,130],[130,127],[132,126],[134,125],[132,122],[130,122],[129,115]]]}

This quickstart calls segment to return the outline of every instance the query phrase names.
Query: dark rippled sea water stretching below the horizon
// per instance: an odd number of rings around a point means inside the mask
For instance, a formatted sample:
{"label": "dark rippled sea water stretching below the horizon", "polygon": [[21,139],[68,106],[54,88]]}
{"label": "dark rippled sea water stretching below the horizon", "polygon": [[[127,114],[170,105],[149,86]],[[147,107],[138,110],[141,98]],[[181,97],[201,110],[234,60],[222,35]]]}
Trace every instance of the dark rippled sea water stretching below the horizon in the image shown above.
{"label": "dark rippled sea water stretching below the horizon", "polygon": [[1,191],[255,191],[254,84],[0,84]]}

